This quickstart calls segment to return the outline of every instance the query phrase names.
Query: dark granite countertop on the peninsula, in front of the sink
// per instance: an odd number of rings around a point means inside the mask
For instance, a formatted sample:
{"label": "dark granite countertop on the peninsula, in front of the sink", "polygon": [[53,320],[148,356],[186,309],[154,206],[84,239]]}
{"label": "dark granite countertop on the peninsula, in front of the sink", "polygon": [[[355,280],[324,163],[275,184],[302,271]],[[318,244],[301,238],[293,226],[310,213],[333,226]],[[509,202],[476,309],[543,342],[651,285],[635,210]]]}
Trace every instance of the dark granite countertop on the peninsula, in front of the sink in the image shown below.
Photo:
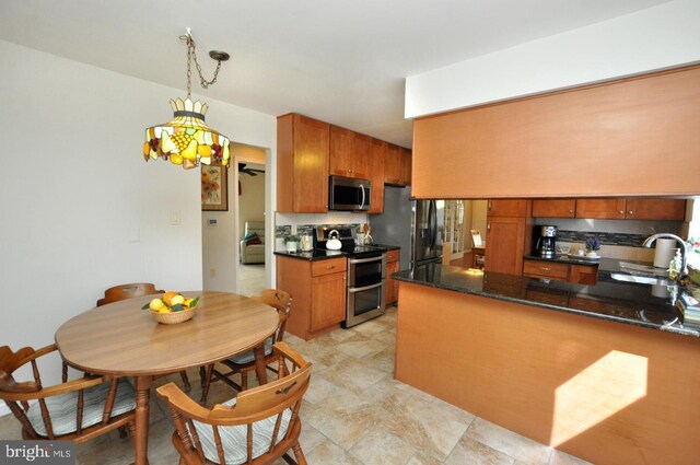
{"label": "dark granite countertop on the peninsula, in front of the sink", "polygon": [[598,268],[598,282],[594,286],[482,272],[440,264],[399,271],[392,275],[392,278],[438,289],[700,337],[700,328],[684,326],[678,319],[674,294],[677,295],[685,289],[675,286],[673,281],[669,281],[669,286],[651,286],[615,280],[612,274],[635,274],[622,269],[620,263],[620,260],[603,258]]}

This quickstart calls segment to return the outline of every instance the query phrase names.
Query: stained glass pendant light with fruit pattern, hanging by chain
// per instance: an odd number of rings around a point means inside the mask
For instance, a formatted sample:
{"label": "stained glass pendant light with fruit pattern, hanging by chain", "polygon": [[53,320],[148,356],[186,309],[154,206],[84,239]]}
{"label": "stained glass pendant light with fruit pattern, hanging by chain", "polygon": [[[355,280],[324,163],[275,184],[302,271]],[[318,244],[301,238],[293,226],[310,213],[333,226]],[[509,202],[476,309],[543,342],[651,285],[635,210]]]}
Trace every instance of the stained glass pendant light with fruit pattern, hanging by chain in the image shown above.
{"label": "stained glass pendant light with fruit pattern, hanging by chain", "polygon": [[143,159],[170,160],[171,163],[182,165],[185,170],[191,170],[199,164],[229,165],[229,138],[211,129],[205,123],[207,104],[191,101],[191,61],[195,61],[201,86],[208,89],[217,82],[221,62],[229,59],[229,54],[212,50],[209,56],[217,60],[217,70],[211,81],[201,75],[201,67],[197,62],[195,40],[191,32],[179,37],[187,44],[187,98],[183,101],[171,100],[173,119],[163,125],[145,129],[145,143],[143,144]]}

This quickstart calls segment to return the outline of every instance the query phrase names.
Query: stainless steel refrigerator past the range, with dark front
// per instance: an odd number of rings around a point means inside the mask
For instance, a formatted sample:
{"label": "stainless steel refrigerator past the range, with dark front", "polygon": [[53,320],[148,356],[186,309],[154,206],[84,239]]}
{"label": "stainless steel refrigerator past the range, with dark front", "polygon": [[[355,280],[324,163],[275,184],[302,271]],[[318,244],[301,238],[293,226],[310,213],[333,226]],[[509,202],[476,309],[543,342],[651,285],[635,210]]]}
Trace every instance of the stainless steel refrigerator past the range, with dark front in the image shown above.
{"label": "stainless steel refrigerator past the range, with dark front", "polygon": [[411,200],[410,188],[386,187],[384,212],[370,214],[377,244],[401,247],[400,269],[442,260],[444,200]]}

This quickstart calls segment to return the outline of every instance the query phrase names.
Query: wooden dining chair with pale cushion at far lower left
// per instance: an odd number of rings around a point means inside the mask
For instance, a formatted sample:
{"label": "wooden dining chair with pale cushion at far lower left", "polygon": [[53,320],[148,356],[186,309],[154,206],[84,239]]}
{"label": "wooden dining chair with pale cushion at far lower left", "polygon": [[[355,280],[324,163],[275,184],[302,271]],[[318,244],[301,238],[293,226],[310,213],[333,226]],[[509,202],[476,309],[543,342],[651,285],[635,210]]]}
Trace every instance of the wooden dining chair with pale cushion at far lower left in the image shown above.
{"label": "wooden dining chair with pale cushion at far lower left", "polygon": [[[68,381],[63,370],[60,384],[43,385],[36,361],[56,350],[55,344],[39,350],[25,347],[16,352],[8,346],[0,347],[0,398],[22,423],[22,438],[72,440],[81,444],[125,427],[133,437],[136,393],[126,380],[86,374]],[[15,380],[15,371],[27,364],[33,381]]]}

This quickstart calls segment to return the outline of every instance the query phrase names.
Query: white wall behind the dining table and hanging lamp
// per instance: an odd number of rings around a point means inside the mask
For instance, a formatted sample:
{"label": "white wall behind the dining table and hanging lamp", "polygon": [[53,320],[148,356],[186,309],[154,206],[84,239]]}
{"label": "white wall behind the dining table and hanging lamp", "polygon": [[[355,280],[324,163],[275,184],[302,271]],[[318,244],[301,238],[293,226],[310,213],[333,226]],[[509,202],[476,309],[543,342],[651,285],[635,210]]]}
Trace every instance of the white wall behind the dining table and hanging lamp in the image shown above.
{"label": "white wall behind the dining table and hanging lamp", "polygon": [[[141,158],[184,90],[2,40],[0,80],[0,345],[51,344],[117,283],[201,289],[199,171]],[[275,117],[209,103],[213,127],[273,149]]]}

